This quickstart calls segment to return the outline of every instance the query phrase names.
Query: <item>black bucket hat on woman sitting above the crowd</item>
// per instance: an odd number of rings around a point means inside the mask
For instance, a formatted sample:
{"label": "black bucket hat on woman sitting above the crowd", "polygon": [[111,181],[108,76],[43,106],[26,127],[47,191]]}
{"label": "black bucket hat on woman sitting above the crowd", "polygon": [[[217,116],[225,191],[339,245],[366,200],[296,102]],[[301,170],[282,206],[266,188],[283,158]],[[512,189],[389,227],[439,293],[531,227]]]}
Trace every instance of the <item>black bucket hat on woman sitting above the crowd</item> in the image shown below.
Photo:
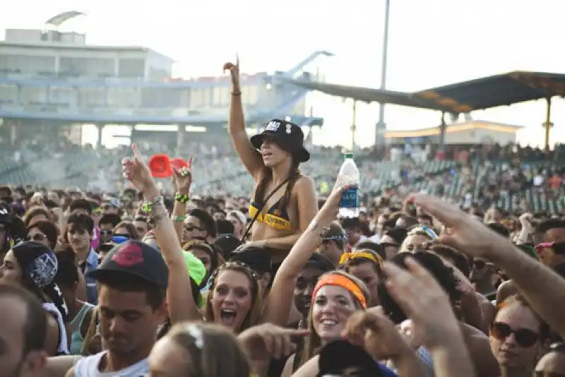
{"label": "black bucket hat on woman sitting above the crowd", "polygon": [[261,148],[266,136],[273,138],[280,148],[289,152],[297,162],[310,160],[310,153],[304,148],[304,133],[297,124],[273,119],[268,122],[263,132],[251,136],[251,144],[255,149]]}

